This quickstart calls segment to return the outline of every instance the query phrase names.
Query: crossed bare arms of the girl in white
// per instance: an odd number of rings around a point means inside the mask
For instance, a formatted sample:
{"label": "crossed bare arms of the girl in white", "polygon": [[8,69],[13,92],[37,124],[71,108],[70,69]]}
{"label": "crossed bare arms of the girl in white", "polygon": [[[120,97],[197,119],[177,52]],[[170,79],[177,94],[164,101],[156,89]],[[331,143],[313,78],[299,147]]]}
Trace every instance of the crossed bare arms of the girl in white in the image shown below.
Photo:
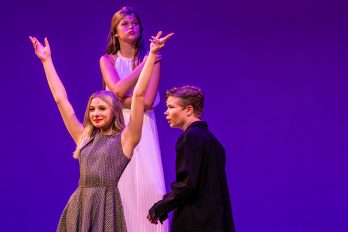
{"label": "crossed bare arms of the girl in white", "polygon": [[[114,59],[112,56],[104,55],[100,58],[100,69],[103,79],[106,86],[113,91],[116,96],[123,97],[138,81],[141,71],[144,68],[146,59],[139,66],[137,66],[127,77],[120,79],[118,76],[115,67]],[[160,84],[161,78],[161,63],[159,62],[162,59],[160,54],[157,54],[155,60],[155,66],[153,69],[152,77],[150,80],[150,85],[145,94],[145,108],[150,109],[154,104],[156,99],[156,94]],[[121,101],[123,107],[130,108],[131,100]]]}

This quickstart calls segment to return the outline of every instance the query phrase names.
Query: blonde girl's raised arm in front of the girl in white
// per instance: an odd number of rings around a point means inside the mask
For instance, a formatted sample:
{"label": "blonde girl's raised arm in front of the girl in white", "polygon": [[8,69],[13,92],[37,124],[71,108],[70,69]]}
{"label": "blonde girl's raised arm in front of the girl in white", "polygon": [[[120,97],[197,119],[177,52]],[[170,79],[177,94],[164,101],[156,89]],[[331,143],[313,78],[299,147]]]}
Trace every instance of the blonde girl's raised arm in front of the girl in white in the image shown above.
{"label": "blonde girl's raised arm in front of the girl in white", "polygon": [[160,39],[161,34],[162,32],[160,31],[156,37],[152,37],[153,40],[150,40],[150,54],[134,88],[129,123],[121,134],[122,149],[124,154],[129,158],[132,156],[134,148],[138,145],[141,139],[144,117],[144,99],[153,73],[156,54],[165,45],[165,42],[173,35],[172,33]]}

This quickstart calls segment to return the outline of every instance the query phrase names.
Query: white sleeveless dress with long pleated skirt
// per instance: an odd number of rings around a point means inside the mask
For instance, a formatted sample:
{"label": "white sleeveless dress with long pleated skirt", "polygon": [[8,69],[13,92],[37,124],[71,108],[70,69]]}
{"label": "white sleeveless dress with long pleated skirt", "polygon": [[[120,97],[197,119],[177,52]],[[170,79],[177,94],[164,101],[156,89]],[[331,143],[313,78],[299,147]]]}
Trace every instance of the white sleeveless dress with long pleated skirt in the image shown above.
{"label": "white sleeveless dress with long pleated skirt", "polygon": [[[122,79],[132,72],[132,59],[117,52],[115,69]],[[114,57],[115,58],[115,57]],[[109,90],[106,87],[107,90]],[[134,87],[125,95],[132,96]],[[160,102],[157,91],[153,107]],[[124,122],[127,125],[130,109],[122,107]],[[162,167],[160,143],[158,139],[154,109],[145,110],[140,143],[127,168],[124,170],[118,187],[121,194],[128,232],[169,232],[169,220],[163,225],[151,224],[146,215],[149,209],[166,194],[165,178]]]}

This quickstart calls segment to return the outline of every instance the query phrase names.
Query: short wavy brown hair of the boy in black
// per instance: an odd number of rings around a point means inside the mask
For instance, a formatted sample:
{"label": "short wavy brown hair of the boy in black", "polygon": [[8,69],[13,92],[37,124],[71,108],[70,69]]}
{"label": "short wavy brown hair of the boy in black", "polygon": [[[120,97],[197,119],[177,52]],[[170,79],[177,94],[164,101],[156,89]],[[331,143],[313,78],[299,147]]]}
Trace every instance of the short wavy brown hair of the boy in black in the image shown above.
{"label": "short wavy brown hair of the boy in black", "polygon": [[183,109],[192,106],[194,116],[201,119],[204,106],[202,89],[193,85],[178,85],[166,91],[165,100],[167,101],[170,96],[180,98],[179,105]]}

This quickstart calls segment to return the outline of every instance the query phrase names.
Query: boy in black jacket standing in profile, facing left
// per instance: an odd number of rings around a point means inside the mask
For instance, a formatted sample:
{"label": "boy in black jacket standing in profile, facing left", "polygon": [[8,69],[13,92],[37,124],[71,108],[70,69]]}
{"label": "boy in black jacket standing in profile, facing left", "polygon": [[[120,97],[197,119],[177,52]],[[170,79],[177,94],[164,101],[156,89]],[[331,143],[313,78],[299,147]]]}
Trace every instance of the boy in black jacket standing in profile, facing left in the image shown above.
{"label": "boy in black jacket standing in profile, facing left", "polygon": [[176,180],[172,192],[154,204],[147,216],[162,223],[173,210],[171,232],[235,232],[227,187],[226,154],[201,121],[204,95],[200,88],[176,86],[165,93],[168,123],[184,131],[175,150]]}

